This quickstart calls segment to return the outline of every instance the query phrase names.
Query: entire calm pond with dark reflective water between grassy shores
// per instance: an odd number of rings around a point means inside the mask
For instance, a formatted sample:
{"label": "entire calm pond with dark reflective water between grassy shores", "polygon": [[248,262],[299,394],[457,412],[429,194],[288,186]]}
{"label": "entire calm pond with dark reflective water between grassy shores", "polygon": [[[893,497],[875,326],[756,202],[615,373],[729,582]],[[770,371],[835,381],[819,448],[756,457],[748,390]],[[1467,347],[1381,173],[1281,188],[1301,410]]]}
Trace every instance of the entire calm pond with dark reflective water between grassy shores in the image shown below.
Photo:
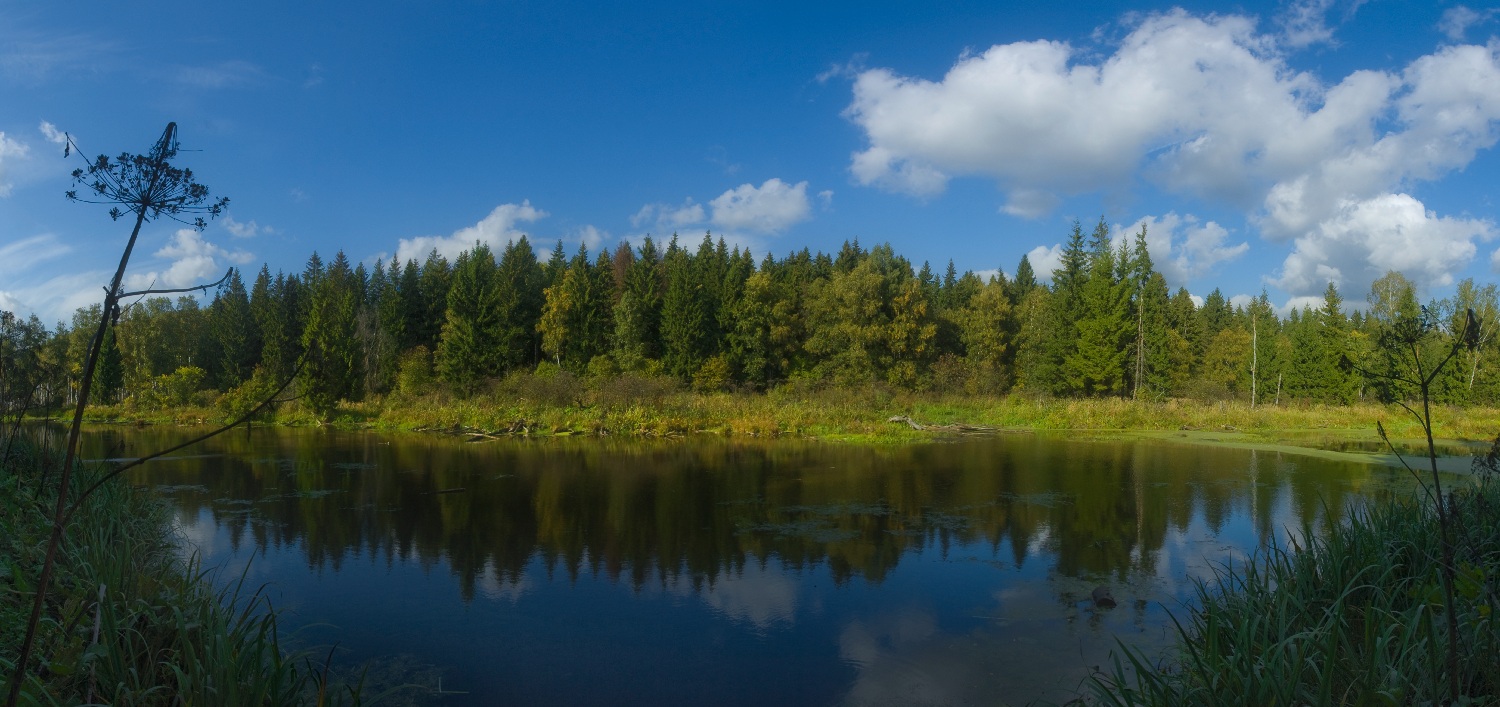
{"label": "entire calm pond with dark reflective water between grassy shores", "polygon": [[[93,458],[183,438],[96,429]],[[1066,701],[1191,578],[1401,485],[1160,441],[900,447],[255,429],[130,477],[220,581],[435,704]],[[249,569],[246,570],[246,564]],[[1095,608],[1108,585],[1119,605]]]}

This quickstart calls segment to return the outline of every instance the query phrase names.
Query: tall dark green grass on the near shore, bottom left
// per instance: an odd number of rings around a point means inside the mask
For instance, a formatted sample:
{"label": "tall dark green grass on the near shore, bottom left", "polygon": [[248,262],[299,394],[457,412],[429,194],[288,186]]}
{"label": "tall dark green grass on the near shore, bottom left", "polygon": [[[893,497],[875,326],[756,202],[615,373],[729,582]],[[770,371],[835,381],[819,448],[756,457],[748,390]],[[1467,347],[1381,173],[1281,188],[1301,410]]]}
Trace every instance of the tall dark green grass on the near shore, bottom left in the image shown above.
{"label": "tall dark green grass on the near shore, bottom left", "polygon": [[[58,461],[0,438],[0,680],[9,692],[51,530]],[[98,470],[80,468],[74,488]],[[76,492],[76,491],[75,491]],[[214,573],[148,491],[105,483],[66,525],[18,704],[360,704],[327,656],[290,651],[268,600]],[[357,680],[356,680],[357,683]]]}

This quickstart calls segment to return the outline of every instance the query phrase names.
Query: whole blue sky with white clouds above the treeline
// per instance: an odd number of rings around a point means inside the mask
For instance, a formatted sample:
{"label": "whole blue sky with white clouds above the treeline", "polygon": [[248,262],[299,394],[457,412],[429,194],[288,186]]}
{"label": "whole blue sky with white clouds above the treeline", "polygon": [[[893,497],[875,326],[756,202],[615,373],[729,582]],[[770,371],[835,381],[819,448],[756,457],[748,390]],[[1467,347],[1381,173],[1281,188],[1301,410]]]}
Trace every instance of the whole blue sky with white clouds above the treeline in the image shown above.
{"label": "whole blue sky with white clouds above the treeline", "polygon": [[230,213],[150,225],[135,284],[674,231],[1046,270],[1101,216],[1198,296],[1494,279],[1494,8],[1071,5],[0,0],[0,308],[102,299],[128,236],[54,131],[168,120]]}

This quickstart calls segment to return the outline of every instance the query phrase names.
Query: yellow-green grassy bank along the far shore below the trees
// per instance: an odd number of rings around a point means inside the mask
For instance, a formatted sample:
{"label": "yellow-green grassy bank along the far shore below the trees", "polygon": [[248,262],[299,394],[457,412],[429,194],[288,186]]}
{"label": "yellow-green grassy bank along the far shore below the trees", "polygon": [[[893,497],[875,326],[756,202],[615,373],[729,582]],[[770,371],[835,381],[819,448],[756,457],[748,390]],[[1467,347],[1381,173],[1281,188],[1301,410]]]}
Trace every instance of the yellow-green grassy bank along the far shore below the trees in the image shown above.
{"label": "yellow-green grassy bank along the far shore below the trees", "polygon": [[[93,422],[207,423],[230,417],[220,401],[202,407],[142,410],[96,407]],[[936,429],[888,422],[906,416]],[[1437,434],[1488,441],[1500,410],[1438,411]],[[954,426],[1020,431],[1234,431],[1256,441],[1305,443],[1324,432],[1374,438],[1383,420],[1398,438],[1418,438],[1406,411],[1378,404],[1282,404],[1251,408],[1238,401],[1124,401],[909,393],[876,386],[824,389],[788,384],[768,393],[696,393],[660,378],[618,377],[588,381],[513,375],[471,398],[430,393],[392,395],[344,402],[332,420],[316,419],[298,402],[282,404],[270,422],[332,423],[352,429],[472,429],[492,435],[674,437],[699,432],[748,437],[822,437],[861,441],[916,441]]]}

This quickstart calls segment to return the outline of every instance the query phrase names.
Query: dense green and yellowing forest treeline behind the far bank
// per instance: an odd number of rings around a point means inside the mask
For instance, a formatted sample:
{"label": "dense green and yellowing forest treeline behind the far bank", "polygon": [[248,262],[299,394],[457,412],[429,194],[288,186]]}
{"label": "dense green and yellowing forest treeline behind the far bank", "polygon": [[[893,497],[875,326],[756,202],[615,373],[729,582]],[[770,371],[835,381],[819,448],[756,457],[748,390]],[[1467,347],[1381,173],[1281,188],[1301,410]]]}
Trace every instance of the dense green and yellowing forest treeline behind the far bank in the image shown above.
{"label": "dense green and yellowing forest treeline behind the far bank", "polygon": [[[339,401],[436,389],[468,396],[513,372],[672,377],[699,390],[885,384],[998,395],[1242,399],[1341,404],[1404,395],[1371,372],[1392,365],[1378,332],[1426,317],[1437,336],[1474,309],[1479,347],[1446,369],[1437,399],[1500,402],[1494,284],[1467,279],[1419,306],[1400,273],[1376,281],[1368,309],[1346,314],[1330,282],[1322,306],[1281,318],[1264,293],[1245,306],[1218,290],[1172,293],[1144,227],[1112,243],[1076,222],[1050,284],[1022,258],[1014,278],[942,275],[882,245],[844,243],[759,263],[705,234],[544,261],[522,237],[448,263],[352,266],[312,254],[300,273],[238,272],[212,305],[136,302],[117,314],[94,380],[100,402],[172,405],[234,392],[249,398],[297,371],[327,414]],[[99,306],[51,332],[34,317],[0,321],[0,401],[58,404],[76,393]],[[1440,344],[1440,341],[1438,341]]]}

